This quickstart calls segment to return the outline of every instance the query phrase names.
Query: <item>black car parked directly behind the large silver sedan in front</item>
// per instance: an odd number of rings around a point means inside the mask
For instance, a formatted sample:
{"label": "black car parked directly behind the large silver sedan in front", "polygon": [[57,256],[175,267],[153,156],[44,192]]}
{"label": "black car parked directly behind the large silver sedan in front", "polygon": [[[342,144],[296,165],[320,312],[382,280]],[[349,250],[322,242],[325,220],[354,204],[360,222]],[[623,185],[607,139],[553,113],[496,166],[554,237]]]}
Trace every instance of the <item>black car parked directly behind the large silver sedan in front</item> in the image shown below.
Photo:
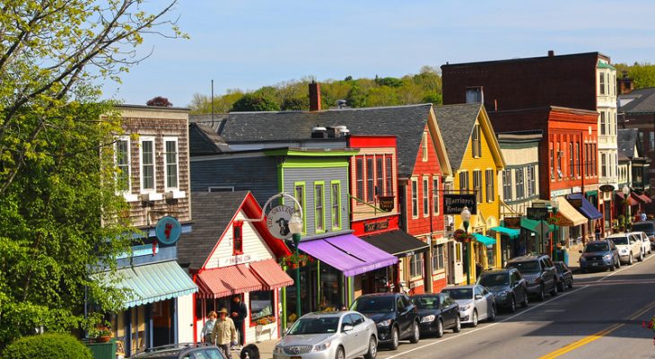
{"label": "black car parked directly behind the large silver sedan in front", "polygon": [[389,345],[392,350],[397,349],[399,340],[409,339],[411,343],[418,343],[418,313],[406,294],[364,294],[353,302],[350,310],[359,311],[375,321],[378,343]]}

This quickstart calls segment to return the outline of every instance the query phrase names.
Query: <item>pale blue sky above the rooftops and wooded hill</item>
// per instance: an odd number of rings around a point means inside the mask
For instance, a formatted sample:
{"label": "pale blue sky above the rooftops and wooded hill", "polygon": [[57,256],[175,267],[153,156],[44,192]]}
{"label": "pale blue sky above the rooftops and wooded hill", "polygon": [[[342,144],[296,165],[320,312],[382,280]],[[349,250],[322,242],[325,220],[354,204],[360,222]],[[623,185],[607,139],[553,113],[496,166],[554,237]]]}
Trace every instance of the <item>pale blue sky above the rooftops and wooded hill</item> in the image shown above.
{"label": "pale blue sky above the rooftops and wooded hill", "polygon": [[[151,0],[156,8],[164,0]],[[179,0],[168,14],[190,39],[149,34],[149,57],[102,83],[103,97],[188,107],[194,93],[312,76],[318,82],[401,77],[450,62],[598,51],[612,63],[655,63],[651,0]]]}

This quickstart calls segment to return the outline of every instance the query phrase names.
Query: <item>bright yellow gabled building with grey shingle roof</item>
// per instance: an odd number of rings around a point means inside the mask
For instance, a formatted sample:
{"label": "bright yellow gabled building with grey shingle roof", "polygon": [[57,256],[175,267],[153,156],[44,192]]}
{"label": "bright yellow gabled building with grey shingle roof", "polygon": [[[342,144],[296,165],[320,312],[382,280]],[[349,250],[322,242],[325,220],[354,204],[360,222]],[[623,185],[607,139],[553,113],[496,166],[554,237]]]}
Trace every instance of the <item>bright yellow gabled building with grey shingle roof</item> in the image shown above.
{"label": "bright yellow gabled building with grey shingle roof", "polygon": [[[446,105],[435,108],[437,123],[446,144],[453,177],[450,188],[454,193],[476,194],[477,212],[469,220],[468,233],[475,241],[467,244],[468,276],[475,282],[478,268],[502,267],[500,236],[489,229],[500,224],[501,201],[498,195],[498,173],[505,167],[500,145],[485,107],[480,103]],[[453,215],[455,229],[464,229],[460,215]],[[455,247],[461,249],[461,245]],[[463,250],[463,249],[462,249]],[[454,253],[454,259],[464,258]],[[466,268],[463,268],[466,273]],[[461,280],[458,280],[461,279]],[[466,277],[456,276],[456,283],[466,283]]]}

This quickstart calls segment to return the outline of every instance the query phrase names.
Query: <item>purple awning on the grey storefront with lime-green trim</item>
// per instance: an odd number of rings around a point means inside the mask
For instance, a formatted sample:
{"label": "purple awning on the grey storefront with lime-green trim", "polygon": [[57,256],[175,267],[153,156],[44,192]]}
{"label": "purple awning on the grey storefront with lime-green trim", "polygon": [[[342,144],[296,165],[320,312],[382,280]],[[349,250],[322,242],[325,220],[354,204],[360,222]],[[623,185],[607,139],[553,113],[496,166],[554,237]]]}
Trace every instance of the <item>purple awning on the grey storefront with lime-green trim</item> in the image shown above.
{"label": "purple awning on the grey storefront with lime-green trim", "polygon": [[301,241],[299,248],[344,272],[344,276],[360,275],[398,262],[395,256],[379,250],[353,234]]}

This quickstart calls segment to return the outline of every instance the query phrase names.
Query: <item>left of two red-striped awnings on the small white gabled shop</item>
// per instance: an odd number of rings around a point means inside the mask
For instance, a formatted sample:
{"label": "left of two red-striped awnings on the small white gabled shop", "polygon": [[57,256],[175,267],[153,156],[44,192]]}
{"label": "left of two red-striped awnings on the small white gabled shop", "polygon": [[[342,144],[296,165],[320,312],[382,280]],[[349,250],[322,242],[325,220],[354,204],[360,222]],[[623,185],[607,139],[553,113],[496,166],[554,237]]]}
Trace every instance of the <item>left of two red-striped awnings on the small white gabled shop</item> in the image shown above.
{"label": "left of two red-striped awnings on the small white gabled shop", "polygon": [[264,289],[264,284],[245,264],[205,270],[197,276],[197,285],[199,294],[205,298],[220,298]]}

